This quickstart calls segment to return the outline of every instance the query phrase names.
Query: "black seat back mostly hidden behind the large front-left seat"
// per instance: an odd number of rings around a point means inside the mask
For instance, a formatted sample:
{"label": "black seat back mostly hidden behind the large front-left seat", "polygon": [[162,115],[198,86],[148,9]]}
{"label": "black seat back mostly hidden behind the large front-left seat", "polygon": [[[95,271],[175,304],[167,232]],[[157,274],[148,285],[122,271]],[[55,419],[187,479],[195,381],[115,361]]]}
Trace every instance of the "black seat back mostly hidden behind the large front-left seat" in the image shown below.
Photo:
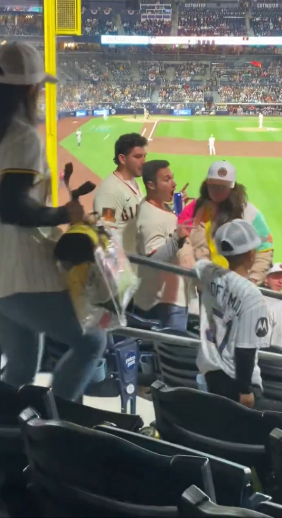
{"label": "black seat back mostly hidden behind the large front-left seat", "polygon": [[[120,428],[98,425],[95,429],[104,431],[105,433],[116,437],[121,437],[126,441],[132,442],[145,450],[158,453],[159,455],[203,455],[202,452],[197,450],[171,444],[163,440],[156,440],[151,437],[121,430]],[[210,454],[205,453],[204,456],[206,456],[210,461],[216,501],[222,506],[231,505],[240,507],[243,503],[246,505],[246,501],[248,501],[251,496],[250,469]]]}

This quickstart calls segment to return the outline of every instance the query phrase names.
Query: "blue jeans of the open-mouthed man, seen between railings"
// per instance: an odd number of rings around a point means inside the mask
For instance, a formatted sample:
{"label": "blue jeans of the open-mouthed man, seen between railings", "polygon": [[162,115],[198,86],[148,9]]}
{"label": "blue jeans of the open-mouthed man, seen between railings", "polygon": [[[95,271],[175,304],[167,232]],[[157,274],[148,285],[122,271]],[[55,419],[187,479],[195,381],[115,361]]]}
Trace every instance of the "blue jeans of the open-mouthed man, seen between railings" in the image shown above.
{"label": "blue jeans of the open-mouthed man, seen between railings", "polygon": [[160,303],[156,304],[156,306],[148,311],[143,311],[142,309],[135,307],[135,312],[140,315],[141,318],[159,320],[162,325],[166,327],[175,327],[176,329],[181,329],[183,331],[187,329],[188,310],[182,306]]}

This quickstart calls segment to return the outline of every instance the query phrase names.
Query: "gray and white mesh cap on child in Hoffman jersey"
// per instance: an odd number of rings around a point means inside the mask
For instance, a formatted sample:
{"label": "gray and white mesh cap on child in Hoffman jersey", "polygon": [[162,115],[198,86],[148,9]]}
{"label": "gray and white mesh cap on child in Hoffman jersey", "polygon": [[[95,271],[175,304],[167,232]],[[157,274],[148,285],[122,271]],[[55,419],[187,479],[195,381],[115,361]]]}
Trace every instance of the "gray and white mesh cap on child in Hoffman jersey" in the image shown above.
{"label": "gray and white mesh cap on child in Hoffman jersey", "polygon": [[261,239],[250,223],[233,220],[219,227],[215,233],[215,246],[224,257],[241,255],[256,250]]}

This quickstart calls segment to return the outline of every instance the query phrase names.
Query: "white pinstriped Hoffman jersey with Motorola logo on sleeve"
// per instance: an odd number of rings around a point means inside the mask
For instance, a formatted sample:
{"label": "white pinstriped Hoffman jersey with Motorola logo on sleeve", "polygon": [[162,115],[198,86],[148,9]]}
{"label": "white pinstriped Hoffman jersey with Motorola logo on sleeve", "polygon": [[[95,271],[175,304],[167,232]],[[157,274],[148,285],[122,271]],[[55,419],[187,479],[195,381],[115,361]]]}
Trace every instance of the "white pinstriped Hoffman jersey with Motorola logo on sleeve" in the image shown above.
{"label": "white pinstriped Hoffman jersey with Motorola logo on sleeve", "polygon": [[[197,366],[202,374],[223,370],[235,378],[235,348],[268,347],[268,320],[258,287],[231,270],[201,260],[201,345]],[[252,383],[261,386],[257,358]]]}

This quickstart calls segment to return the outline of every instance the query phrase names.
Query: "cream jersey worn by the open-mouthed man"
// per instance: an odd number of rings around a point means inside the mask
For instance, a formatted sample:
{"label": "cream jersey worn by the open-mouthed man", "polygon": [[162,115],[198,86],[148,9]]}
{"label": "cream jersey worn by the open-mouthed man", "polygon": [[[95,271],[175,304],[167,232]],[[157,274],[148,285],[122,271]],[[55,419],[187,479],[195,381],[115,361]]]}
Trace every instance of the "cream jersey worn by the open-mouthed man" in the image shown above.
{"label": "cream jersey worn by the open-mouthed man", "polygon": [[[153,254],[166,243],[176,225],[177,217],[173,212],[159,209],[143,199],[137,218],[137,253]],[[177,259],[173,262],[178,264]],[[139,266],[138,277],[141,282],[134,301],[144,311],[159,303],[188,306],[188,287],[183,277],[147,266]]]}

